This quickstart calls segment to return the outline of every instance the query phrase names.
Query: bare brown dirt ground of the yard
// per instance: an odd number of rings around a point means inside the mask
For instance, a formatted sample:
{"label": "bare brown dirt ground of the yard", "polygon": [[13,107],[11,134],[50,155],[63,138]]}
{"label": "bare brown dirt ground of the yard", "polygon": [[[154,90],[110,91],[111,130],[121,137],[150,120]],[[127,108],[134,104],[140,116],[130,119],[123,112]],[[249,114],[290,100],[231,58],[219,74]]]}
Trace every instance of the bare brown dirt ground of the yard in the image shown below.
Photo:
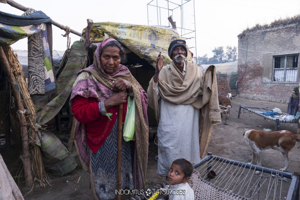
{"label": "bare brown dirt ground of the yard", "polygon": [[[243,162],[250,162],[252,152],[250,147],[246,145],[243,139],[243,133],[248,129],[262,130],[263,128],[269,128],[274,130],[275,122],[264,119],[256,114],[248,111],[241,112],[240,118],[238,116],[239,105],[268,107],[273,109],[274,107],[280,108],[282,112],[286,112],[287,104],[274,103],[265,101],[247,100],[239,97],[233,97],[232,109],[230,112],[229,124],[225,125],[225,116],[222,118],[222,123],[219,123],[213,127],[213,132],[209,142],[207,152],[212,152],[214,155],[226,157],[232,160],[238,160]],[[279,130],[289,130],[294,133],[297,131],[297,124],[295,123],[282,123],[279,126]],[[163,181],[164,178],[156,174],[157,161],[155,156],[157,155],[157,147],[152,141],[153,132],[156,131],[156,127],[150,128],[149,135],[149,160],[146,176],[146,187],[150,188]],[[299,143],[296,146],[300,145]],[[300,160],[298,159],[300,149],[294,148],[289,154],[290,166],[288,172],[300,171]],[[1,152],[3,154],[4,152]],[[49,175],[52,187],[46,185],[45,188],[33,187],[28,188],[22,185],[20,190],[25,199],[92,199],[89,189],[88,174],[82,171],[78,156],[76,156],[78,163],[77,168],[68,175],[62,177],[55,177]],[[284,166],[284,160],[282,154],[278,151],[267,149],[262,151],[262,166],[280,169]],[[287,190],[287,188],[284,188]],[[124,196],[122,199],[126,199]]]}

